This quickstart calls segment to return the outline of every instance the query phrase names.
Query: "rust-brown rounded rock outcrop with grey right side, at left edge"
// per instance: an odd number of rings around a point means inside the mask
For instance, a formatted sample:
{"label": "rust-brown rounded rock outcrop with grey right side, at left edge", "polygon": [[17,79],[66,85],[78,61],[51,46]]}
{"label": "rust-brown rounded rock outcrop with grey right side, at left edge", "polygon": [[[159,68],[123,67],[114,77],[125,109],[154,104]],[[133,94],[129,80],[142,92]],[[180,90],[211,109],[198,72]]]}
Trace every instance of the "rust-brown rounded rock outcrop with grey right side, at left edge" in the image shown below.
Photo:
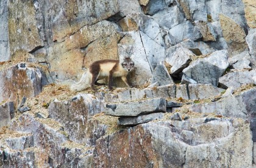
{"label": "rust-brown rounded rock outcrop with grey right side, at left edge", "polygon": [[37,96],[44,85],[52,83],[48,70],[20,63],[0,70],[0,102],[14,101],[15,108],[23,96]]}

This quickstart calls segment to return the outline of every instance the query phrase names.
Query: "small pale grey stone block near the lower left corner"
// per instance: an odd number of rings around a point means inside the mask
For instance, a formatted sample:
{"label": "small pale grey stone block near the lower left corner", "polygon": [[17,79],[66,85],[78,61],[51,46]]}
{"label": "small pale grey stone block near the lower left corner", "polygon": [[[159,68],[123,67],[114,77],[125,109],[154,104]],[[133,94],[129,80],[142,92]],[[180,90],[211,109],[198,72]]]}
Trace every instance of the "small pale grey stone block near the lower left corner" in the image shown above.
{"label": "small pale grey stone block near the lower left corner", "polygon": [[6,143],[10,149],[15,150],[24,150],[28,147],[34,147],[34,138],[33,136],[20,136],[15,138],[5,139]]}

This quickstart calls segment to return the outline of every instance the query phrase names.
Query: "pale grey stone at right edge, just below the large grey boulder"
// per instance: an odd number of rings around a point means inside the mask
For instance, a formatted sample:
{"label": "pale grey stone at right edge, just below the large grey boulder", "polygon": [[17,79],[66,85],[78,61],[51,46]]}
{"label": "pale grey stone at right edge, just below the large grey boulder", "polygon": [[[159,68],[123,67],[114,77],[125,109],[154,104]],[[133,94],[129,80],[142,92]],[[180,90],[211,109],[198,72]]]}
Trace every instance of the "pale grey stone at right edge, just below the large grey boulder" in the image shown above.
{"label": "pale grey stone at right edge, just below the large grey boulder", "polygon": [[243,84],[256,84],[256,70],[235,71],[227,73],[219,78],[219,84],[224,87],[237,89]]}

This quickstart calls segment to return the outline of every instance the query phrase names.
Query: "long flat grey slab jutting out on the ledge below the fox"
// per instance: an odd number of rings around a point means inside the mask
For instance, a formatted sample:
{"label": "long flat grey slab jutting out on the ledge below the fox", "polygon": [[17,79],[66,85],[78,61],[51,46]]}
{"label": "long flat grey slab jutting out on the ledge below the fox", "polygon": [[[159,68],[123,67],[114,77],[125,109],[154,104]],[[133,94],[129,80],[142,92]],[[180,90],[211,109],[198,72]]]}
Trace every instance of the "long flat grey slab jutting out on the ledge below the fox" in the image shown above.
{"label": "long flat grey slab jutting out on the ledge below the fox", "polygon": [[107,103],[105,115],[138,116],[154,112],[165,112],[166,101],[163,98],[147,99],[143,101],[124,102],[118,104]]}

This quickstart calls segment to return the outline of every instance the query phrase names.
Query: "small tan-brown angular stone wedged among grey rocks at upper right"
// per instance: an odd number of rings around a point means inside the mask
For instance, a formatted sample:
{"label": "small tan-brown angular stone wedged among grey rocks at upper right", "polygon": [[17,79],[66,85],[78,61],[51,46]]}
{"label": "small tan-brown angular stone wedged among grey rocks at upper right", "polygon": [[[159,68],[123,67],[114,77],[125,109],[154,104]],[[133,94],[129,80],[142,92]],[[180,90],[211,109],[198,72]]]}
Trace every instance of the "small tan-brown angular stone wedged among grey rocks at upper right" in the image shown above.
{"label": "small tan-brown angular stone wedged among grey rocks at upper right", "polygon": [[217,35],[211,24],[202,21],[195,21],[195,24],[202,34],[203,41],[216,41]]}

